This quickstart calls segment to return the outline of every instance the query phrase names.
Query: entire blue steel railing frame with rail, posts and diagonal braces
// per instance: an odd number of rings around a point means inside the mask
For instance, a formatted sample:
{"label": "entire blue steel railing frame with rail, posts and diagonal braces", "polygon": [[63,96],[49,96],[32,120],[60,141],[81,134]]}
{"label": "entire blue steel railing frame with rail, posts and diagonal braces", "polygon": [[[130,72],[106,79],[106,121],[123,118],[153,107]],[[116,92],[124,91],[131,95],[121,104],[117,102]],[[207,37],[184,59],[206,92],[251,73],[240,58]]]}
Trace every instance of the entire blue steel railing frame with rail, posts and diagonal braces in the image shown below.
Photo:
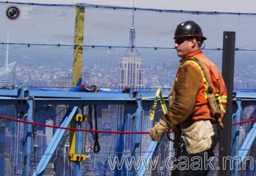
{"label": "entire blue steel railing frame with rail, posts and diagonal braces", "polygon": [[[163,91],[164,100],[167,102],[168,92]],[[127,105],[127,114],[129,117],[133,117],[133,131],[139,131],[139,124],[141,121],[142,109],[149,110],[154,102],[155,92],[148,93],[88,93],[88,92],[62,92],[62,91],[43,91],[43,90],[26,90],[26,89],[14,89],[14,90],[0,90],[0,105],[16,105],[18,112],[26,112],[24,114],[24,120],[28,122],[33,121],[35,112],[35,103],[37,105],[70,105],[70,109],[63,118],[61,127],[68,127],[76,114],[82,114],[80,106],[85,105]],[[255,105],[256,93],[255,92],[235,92],[233,96],[234,106],[233,122],[239,122],[241,119],[241,111],[244,108],[243,103],[251,103]],[[20,115],[20,114],[18,114]],[[79,123],[76,124],[76,128],[81,128]],[[23,175],[29,175],[30,171],[30,155],[32,145],[32,124],[26,124],[25,135],[23,139]],[[241,148],[239,149],[239,125],[233,127],[232,133],[232,157],[238,156],[240,159],[234,162],[234,168],[232,175],[238,175],[239,165],[244,161],[248,155],[248,151],[254,142],[256,137],[256,124],[252,125],[251,130],[246,136]],[[76,135],[76,153],[82,153],[82,131],[77,131]],[[61,138],[65,133],[65,129],[58,128],[52,137],[51,143],[45,150],[47,155],[43,155],[33,175],[42,175],[48,165],[55,149],[60,143]],[[139,134],[133,135],[133,152],[136,159],[138,159],[139,152]],[[146,161],[148,158],[152,158],[154,151],[158,147],[158,142],[151,142],[144,156]],[[74,174],[82,175],[81,172],[81,159],[74,164]],[[84,159],[83,159],[84,161]],[[144,175],[146,168],[141,166],[138,171],[133,172],[133,175]]]}

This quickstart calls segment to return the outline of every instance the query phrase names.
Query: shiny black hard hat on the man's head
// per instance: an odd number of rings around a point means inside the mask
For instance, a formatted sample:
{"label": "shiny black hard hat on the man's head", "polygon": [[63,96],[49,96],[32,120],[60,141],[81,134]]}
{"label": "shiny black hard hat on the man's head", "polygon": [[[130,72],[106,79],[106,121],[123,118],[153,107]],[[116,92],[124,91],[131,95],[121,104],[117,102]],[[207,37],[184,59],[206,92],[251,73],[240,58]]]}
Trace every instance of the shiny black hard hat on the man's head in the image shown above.
{"label": "shiny black hard hat on the man's head", "polygon": [[185,21],[180,23],[175,30],[173,39],[179,37],[195,37],[201,42],[207,39],[207,37],[202,35],[201,27],[196,24],[195,21]]}

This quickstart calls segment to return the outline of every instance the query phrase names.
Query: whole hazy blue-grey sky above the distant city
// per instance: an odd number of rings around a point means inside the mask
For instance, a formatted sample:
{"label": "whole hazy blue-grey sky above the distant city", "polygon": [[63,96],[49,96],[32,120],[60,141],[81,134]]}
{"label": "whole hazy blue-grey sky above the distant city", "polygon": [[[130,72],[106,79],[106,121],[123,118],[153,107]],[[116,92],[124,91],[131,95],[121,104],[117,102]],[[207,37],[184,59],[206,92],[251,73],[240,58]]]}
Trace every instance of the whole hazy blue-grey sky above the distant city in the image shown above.
{"label": "whole hazy blue-grey sky above the distant city", "polygon": [[[18,1],[18,0],[17,0]],[[15,2],[15,1],[13,1]],[[21,0],[19,1],[21,2]],[[41,0],[22,0],[22,2],[42,2]],[[132,7],[132,0],[87,0],[87,1],[48,1],[47,4],[76,4],[83,2],[88,4],[105,4],[115,6]],[[157,3],[156,3],[157,2]],[[191,1],[185,1],[191,3]],[[235,10],[238,4],[220,6],[218,0],[214,5],[208,5],[206,8],[203,1],[197,1],[196,5],[189,5],[182,2],[172,2],[171,0],[135,0],[135,7],[146,7],[166,10],[191,10],[191,11],[219,11],[219,12],[245,12]],[[229,2],[226,1],[225,3]],[[246,7],[249,1],[239,2],[240,7]],[[210,2],[211,3],[211,2]],[[224,3],[224,2],[223,2]],[[235,3],[235,1],[233,2]],[[201,4],[201,5],[199,5]],[[18,20],[8,20],[5,16],[5,10],[10,6],[7,3],[0,4],[0,42],[7,42],[7,31],[9,30],[10,43],[45,43],[73,45],[74,42],[74,19],[75,7],[57,7],[57,6],[38,6],[38,5],[17,5],[18,7],[32,7],[31,11],[26,11],[26,18]],[[195,8],[193,8],[195,6]],[[189,8],[190,7],[190,8]],[[205,7],[205,8],[204,8]],[[215,7],[215,8],[214,8]],[[255,7],[254,5],[248,6]],[[201,8],[201,9],[200,9]],[[211,9],[210,9],[211,8]],[[226,9],[221,9],[226,8]],[[249,9],[248,8],[248,9]],[[228,10],[229,9],[229,10]],[[244,8],[246,9],[246,8]],[[254,11],[247,11],[254,12]],[[256,10],[255,10],[256,14]],[[223,32],[236,32],[236,48],[251,49],[252,51],[236,51],[237,64],[255,65],[256,35],[255,35],[255,15],[238,15],[238,14],[188,14],[186,12],[159,12],[159,11],[135,11],[135,29],[136,29],[136,46],[151,47],[149,49],[139,48],[145,64],[162,65],[163,62],[170,62],[170,58],[179,61],[174,49],[154,49],[174,47],[174,30],[177,24],[182,21],[193,20],[198,23],[207,37],[205,41],[205,54],[210,56],[218,65],[221,63],[223,45]],[[132,27],[132,10],[111,8],[86,8],[85,15],[85,37],[84,45],[88,46],[128,46],[129,32]],[[152,48],[153,47],[153,48]],[[25,64],[48,64],[49,61],[64,62],[72,65],[73,47],[72,46],[35,46],[31,45],[10,45],[9,46],[10,62],[17,61]],[[4,64],[5,45],[0,45],[0,66]],[[214,50],[215,49],[215,50]],[[217,50],[216,50],[217,49]],[[85,48],[85,63],[101,62],[108,59],[113,65],[119,64],[121,56],[126,48]],[[35,59],[36,57],[36,59]],[[111,63],[112,64],[112,63]]]}

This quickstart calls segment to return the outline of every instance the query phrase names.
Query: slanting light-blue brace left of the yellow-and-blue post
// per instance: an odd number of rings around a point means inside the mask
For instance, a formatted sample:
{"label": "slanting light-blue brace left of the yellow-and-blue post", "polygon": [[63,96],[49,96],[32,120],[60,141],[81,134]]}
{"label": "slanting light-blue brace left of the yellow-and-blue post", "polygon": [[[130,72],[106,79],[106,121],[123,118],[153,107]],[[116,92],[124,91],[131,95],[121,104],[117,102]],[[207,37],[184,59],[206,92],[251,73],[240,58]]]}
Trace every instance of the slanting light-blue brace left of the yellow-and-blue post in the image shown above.
{"label": "slanting light-blue brace left of the yellow-and-blue post", "polygon": [[[61,127],[68,127],[68,125],[70,124],[72,118],[74,117],[74,115],[77,113],[77,109],[78,107],[75,106],[73,108],[73,110],[70,112],[69,115],[67,115],[67,117],[64,118],[63,122],[61,123]],[[54,154],[55,150],[58,147],[58,144],[60,143],[63,135],[65,133],[65,129],[60,129],[58,128],[56,130],[56,132],[54,133],[54,136],[52,137],[51,142],[49,143],[49,146],[47,147],[47,149],[45,150],[45,153],[43,154],[38,166],[37,166],[37,172],[36,171],[33,173],[33,176],[40,176],[43,174],[43,172],[45,171],[46,166],[48,165],[50,159],[52,158],[52,155]]]}

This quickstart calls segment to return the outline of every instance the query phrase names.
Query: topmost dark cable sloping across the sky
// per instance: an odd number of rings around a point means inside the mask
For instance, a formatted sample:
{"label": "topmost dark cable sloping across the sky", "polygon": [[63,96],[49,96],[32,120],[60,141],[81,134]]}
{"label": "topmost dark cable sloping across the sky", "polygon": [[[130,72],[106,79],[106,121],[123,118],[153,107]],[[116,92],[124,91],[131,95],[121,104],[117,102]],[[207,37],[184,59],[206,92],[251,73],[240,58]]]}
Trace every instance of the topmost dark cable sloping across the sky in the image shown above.
{"label": "topmost dark cable sloping across the sky", "polygon": [[185,13],[185,14],[196,14],[196,15],[256,15],[256,13],[248,12],[217,12],[217,11],[187,11],[187,10],[160,10],[154,8],[138,8],[138,7],[123,7],[123,6],[114,6],[114,5],[96,5],[96,4],[40,4],[40,3],[27,3],[27,2],[8,2],[0,1],[0,3],[5,4],[21,4],[21,5],[38,5],[38,6],[57,6],[57,7],[93,7],[93,8],[113,8],[115,9],[124,9],[124,10],[148,10],[148,11],[157,11],[157,12],[171,12],[171,13]]}

